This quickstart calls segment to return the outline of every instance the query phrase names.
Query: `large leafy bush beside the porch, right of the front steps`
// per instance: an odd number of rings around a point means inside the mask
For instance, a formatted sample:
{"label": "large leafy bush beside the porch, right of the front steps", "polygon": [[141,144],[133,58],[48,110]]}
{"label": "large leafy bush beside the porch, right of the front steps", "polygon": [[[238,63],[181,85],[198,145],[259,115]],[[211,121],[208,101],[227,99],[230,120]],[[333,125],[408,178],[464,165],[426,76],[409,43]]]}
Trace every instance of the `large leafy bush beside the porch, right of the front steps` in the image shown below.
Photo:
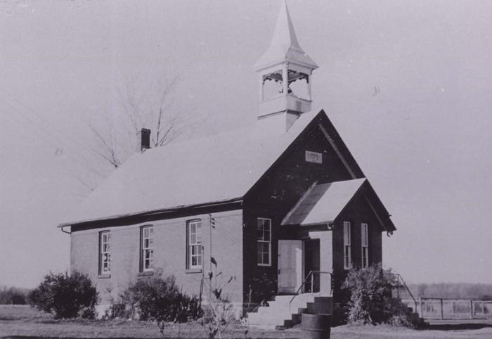
{"label": "large leafy bush beside the porch, right of the front steps", "polygon": [[349,323],[410,326],[412,314],[392,292],[402,288],[391,270],[380,264],[351,269],[342,288],[349,291]]}

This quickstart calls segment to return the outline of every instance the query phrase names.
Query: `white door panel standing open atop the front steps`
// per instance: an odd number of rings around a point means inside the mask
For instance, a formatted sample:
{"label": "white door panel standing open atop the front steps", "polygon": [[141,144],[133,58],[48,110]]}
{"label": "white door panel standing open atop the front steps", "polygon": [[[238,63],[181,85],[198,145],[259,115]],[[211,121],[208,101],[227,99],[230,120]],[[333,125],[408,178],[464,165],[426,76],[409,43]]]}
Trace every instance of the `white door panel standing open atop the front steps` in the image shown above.
{"label": "white door panel standing open atop the front steps", "polygon": [[278,241],[278,293],[293,294],[302,284],[302,241]]}

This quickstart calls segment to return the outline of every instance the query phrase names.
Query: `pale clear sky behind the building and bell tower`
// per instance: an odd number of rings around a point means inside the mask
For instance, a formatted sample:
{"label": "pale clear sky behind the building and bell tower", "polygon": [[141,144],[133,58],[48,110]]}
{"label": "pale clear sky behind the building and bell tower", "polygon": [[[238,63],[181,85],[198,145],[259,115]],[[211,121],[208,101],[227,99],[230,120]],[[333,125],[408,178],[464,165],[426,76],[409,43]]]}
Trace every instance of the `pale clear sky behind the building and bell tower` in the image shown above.
{"label": "pale clear sky behind the building and bell tower", "polygon": [[[176,77],[183,138],[254,124],[281,1],[0,1],[0,286],[68,269],[60,220],[112,171],[90,125]],[[492,3],[287,0],[323,108],[391,213],[385,267],[492,283]],[[150,84],[150,85],[149,85]],[[116,123],[115,123],[116,124]]]}

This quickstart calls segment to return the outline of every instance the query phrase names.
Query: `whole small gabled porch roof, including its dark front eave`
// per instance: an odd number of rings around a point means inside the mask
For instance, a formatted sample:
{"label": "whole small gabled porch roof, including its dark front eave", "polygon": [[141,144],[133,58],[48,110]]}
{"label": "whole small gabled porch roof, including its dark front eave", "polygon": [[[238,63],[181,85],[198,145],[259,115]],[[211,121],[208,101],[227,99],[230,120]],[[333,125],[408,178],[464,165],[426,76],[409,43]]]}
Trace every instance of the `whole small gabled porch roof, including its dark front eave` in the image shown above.
{"label": "whole small gabled porch roof, including its dark front eave", "polygon": [[363,193],[385,231],[394,231],[389,214],[365,178],[314,184],[287,214],[282,225],[319,225],[335,222],[358,192]]}

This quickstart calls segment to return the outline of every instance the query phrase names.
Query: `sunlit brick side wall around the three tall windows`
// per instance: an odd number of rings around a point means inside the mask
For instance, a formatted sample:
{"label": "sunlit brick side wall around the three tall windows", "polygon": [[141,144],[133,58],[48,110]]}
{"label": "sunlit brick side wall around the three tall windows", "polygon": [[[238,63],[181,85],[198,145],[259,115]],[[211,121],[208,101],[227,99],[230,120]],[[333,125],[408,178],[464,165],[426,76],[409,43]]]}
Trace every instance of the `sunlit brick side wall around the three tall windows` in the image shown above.
{"label": "sunlit brick side wall around the three tall windows", "polygon": [[[241,210],[213,213],[215,229],[212,229],[212,256],[222,271],[223,279],[235,277],[224,293],[233,302],[242,302],[242,212]],[[202,219],[202,245],[204,247],[203,272],[186,270],[186,221]],[[210,269],[210,226],[209,215],[193,215],[176,219],[111,226],[101,229],[74,231],[71,236],[70,267],[91,276],[101,304],[118,302],[119,293],[139,276],[140,228],[154,226],[154,273],[174,275],[176,283],[188,294],[198,295],[202,274]],[[111,274],[98,276],[99,233],[111,232]],[[215,267],[213,266],[215,270]]]}

